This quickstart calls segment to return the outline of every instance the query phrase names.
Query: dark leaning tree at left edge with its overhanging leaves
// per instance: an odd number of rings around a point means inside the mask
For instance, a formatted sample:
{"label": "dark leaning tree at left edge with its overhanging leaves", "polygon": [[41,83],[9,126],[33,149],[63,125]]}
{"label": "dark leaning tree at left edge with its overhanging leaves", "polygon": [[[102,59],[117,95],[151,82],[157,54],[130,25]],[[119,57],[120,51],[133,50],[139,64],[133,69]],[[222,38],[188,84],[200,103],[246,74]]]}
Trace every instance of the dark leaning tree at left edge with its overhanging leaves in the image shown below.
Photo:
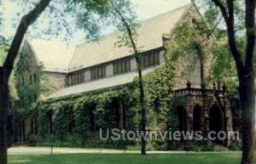
{"label": "dark leaning tree at left edge with its overhanging leaves", "polygon": [[[0,1],[1,3],[2,1]],[[85,13],[86,15],[95,15],[95,14],[102,14],[101,8],[97,8],[97,6],[93,5],[94,1],[83,1],[86,2],[86,9]],[[100,1],[99,1],[100,2]],[[104,2],[104,0],[102,0]],[[27,3],[26,0],[24,1],[17,1],[17,3]],[[23,37],[26,34],[27,28],[32,25],[35,20],[38,19],[38,16],[43,13],[44,9],[49,6],[50,0],[40,0],[39,2],[33,3],[36,4],[35,6],[32,6],[32,10],[25,14],[22,19],[20,20],[20,23],[17,27],[17,30],[15,32],[15,37],[13,41],[10,44],[10,48],[7,54],[6,59],[3,62],[3,65],[0,67],[0,164],[6,164],[7,163],[7,139],[6,139],[6,117],[8,113],[9,108],[9,77],[11,75],[11,72],[13,71],[15,59],[19,53],[20,45],[23,40]],[[59,5],[62,4],[62,1],[58,2]],[[66,0],[67,6],[70,3],[78,4],[79,0]],[[27,4],[28,6],[30,5]],[[73,8],[74,6],[71,5],[70,8]],[[70,11],[79,10],[79,8],[74,8],[71,10],[70,8],[65,9],[67,14],[69,14]],[[49,14],[54,14],[54,17],[56,19],[59,19],[59,17],[64,17],[63,14],[61,16],[58,15],[58,8],[55,8],[54,6],[50,6],[49,8]],[[62,18],[61,18],[62,19]],[[93,21],[93,16],[85,17],[83,18],[84,22],[87,23],[86,27],[84,27],[85,30],[89,31],[88,36],[95,37],[95,34],[97,34],[96,22]],[[3,22],[2,15],[0,14],[0,24]],[[53,21],[52,21],[53,22]],[[55,34],[58,34],[58,31],[60,31],[60,24],[55,25],[54,27],[57,28],[53,30]],[[96,26],[94,26],[96,25]],[[57,27],[56,27],[57,26]],[[67,27],[67,22],[64,21],[63,26]],[[52,27],[53,28],[53,27]],[[68,31],[68,27],[67,27]],[[52,31],[45,31],[46,34],[52,34]],[[0,42],[4,43],[4,37],[0,37]]]}

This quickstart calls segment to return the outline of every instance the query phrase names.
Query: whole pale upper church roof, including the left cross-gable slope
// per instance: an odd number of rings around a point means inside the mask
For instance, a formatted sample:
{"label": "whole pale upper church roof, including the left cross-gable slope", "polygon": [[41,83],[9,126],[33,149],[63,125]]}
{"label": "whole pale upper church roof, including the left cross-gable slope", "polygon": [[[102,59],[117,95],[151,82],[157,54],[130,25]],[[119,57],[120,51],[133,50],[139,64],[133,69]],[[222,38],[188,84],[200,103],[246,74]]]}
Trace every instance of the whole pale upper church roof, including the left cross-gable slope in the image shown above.
{"label": "whole pale upper church roof, including the left cross-gable slope", "polygon": [[[143,21],[137,30],[137,47],[141,51],[162,47],[163,34],[172,32],[191,4]],[[129,48],[115,46],[121,35],[121,32],[113,32],[99,41],[85,42],[79,46],[40,39],[27,42],[38,62],[44,65],[44,71],[69,72],[131,55]]]}

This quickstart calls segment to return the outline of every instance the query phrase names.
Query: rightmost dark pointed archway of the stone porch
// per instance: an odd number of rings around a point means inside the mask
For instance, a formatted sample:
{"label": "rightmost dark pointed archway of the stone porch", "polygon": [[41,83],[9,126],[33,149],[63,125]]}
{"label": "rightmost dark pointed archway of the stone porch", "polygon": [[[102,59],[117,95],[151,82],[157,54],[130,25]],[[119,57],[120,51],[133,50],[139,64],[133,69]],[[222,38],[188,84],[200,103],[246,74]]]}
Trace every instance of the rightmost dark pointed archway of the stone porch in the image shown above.
{"label": "rightmost dark pointed archway of the stone porch", "polygon": [[[212,105],[209,110],[209,131],[213,131],[216,134],[220,131],[224,131],[224,112],[218,105]],[[217,137],[217,135],[212,137]],[[216,139],[214,142],[216,144],[224,143],[224,141],[220,139]]]}

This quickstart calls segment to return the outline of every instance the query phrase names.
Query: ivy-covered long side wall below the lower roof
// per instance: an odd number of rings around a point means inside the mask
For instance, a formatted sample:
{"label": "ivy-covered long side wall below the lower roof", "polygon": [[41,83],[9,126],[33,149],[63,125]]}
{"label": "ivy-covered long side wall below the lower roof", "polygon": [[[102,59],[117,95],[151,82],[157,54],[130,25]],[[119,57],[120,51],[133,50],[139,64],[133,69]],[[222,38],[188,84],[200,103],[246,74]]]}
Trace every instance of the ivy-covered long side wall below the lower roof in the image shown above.
{"label": "ivy-covered long side wall below the lower roof", "polygon": [[[174,72],[174,65],[166,59],[165,64],[158,66],[143,78],[148,129],[167,128],[167,115],[173,97]],[[134,82],[125,86],[38,101],[32,109],[37,116],[38,132],[36,135],[30,135],[28,142],[48,142],[49,138],[54,137],[55,141],[79,147],[101,143],[105,146],[119,146],[121,141],[110,144],[108,142],[112,141],[100,141],[99,128],[139,130],[138,96],[135,78]],[[125,145],[136,145],[135,141],[127,142]]]}

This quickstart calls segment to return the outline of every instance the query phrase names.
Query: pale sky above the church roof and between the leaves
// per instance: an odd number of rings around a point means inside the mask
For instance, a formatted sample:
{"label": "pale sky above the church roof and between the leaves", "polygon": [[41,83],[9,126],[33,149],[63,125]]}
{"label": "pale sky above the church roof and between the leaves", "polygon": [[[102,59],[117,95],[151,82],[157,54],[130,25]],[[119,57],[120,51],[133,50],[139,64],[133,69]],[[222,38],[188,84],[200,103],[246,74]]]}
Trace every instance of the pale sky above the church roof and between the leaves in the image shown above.
{"label": "pale sky above the church roof and between the leaves", "polygon": [[[131,0],[135,6],[137,19],[140,21],[148,20],[158,14],[166,13],[173,8],[181,7],[191,2],[191,0]],[[3,19],[5,20],[3,28],[0,29],[0,35],[4,37],[13,37],[15,35],[15,28],[12,25],[12,19],[17,18],[17,11],[20,10],[20,6],[11,0],[3,0],[3,4],[0,6],[0,10],[3,11]],[[75,22],[73,22],[75,23]],[[104,35],[111,33],[113,29],[107,29],[104,31]],[[86,42],[84,39],[84,31],[77,31],[73,33],[73,38],[69,39],[71,44],[80,44]],[[37,35],[40,38],[40,35]],[[61,37],[53,37],[51,40],[61,41]]]}

